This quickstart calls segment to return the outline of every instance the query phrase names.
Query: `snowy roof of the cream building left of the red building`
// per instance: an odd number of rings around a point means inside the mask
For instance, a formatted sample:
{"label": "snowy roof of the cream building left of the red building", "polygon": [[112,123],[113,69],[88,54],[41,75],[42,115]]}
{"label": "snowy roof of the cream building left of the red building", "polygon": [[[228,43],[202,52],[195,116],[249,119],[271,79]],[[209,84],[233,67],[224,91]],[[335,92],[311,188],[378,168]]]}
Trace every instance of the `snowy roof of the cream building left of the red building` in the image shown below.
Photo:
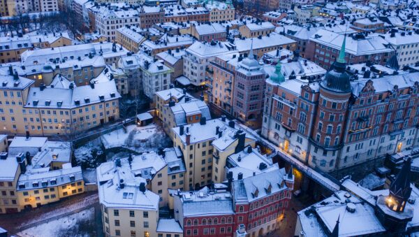
{"label": "snowy roof of the cream building left of the red building", "polygon": [[147,184],[147,178],[164,166],[166,162],[155,152],[133,157],[131,166],[128,158],[101,164],[96,168],[99,201],[108,208],[158,210],[159,195],[147,189],[141,192],[140,183]]}

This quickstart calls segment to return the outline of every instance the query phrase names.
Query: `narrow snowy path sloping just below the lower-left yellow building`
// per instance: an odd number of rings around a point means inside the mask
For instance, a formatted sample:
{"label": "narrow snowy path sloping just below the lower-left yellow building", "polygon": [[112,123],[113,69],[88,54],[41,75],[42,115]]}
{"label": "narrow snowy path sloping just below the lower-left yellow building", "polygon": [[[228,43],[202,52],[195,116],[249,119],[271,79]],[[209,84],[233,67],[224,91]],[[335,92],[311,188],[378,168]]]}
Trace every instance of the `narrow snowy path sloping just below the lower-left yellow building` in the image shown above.
{"label": "narrow snowy path sloping just below the lower-left yellow building", "polygon": [[96,202],[98,202],[98,194],[85,196],[83,199],[78,199],[74,203],[71,203],[68,206],[63,206],[61,208],[54,209],[50,213],[44,213],[41,216],[34,217],[29,222],[22,223],[20,227],[25,227],[29,224],[34,224],[37,222],[43,222],[50,218],[58,217],[59,215],[65,215],[66,213],[70,213],[72,211],[81,210],[84,207],[93,205]]}

